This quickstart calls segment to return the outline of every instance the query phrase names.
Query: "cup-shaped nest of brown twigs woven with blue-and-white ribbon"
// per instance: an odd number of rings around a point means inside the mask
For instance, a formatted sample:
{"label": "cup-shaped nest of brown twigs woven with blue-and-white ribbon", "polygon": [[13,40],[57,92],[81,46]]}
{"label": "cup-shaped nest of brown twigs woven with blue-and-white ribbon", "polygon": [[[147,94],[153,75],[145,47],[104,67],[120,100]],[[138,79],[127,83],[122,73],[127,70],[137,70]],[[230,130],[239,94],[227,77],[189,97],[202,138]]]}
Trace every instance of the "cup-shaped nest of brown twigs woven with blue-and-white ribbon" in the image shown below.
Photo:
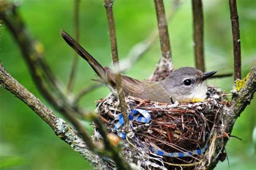
{"label": "cup-shaped nest of brown twigs woven with blue-and-white ribbon", "polygon": [[[129,96],[128,112],[137,111],[133,117],[143,117],[138,110],[150,115],[148,122],[131,118],[129,130],[117,119],[121,113],[113,95],[99,101],[97,112],[107,131],[122,138],[122,154],[128,161],[143,169],[202,168],[203,160],[213,157],[208,151],[213,132],[223,137],[220,120],[227,105],[218,88],[209,87],[207,96],[205,102],[173,104]],[[97,129],[94,134],[99,138]]]}

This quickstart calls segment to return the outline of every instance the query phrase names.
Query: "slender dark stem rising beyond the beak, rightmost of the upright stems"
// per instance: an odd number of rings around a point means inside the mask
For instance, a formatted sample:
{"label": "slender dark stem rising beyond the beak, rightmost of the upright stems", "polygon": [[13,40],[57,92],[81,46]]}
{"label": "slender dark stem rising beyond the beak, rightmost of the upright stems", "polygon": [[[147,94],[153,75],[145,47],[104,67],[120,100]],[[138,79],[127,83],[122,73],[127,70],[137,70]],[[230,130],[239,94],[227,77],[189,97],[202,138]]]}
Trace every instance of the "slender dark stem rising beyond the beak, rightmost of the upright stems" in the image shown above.
{"label": "slender dark stem rising beyond the beak, rightmost of the upright stems", "polygon": [[236,0],[229,0],[233,35],[234,80],[241,79],[241,40]]}

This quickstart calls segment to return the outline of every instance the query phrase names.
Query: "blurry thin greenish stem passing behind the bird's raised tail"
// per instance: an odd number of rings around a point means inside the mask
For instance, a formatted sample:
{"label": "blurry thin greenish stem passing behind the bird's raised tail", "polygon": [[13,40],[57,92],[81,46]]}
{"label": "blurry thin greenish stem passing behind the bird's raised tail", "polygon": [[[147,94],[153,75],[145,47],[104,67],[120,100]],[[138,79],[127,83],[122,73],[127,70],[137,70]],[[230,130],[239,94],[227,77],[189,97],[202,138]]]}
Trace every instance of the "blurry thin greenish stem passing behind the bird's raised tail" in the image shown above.
{"label": "blurry thin greenish stem passing behind the bird's raised tail", "polygon": [[[75,37],[77,42],[79,42],[79,3],[80,3],[80,0],[74,0],[74,26],[75,26]],[[69,75],[68,86],[66,88],[67,93],[72,91],[73,86],[75,84],[77,65],[78,65],[78,55],[75,52],[72,68]]]}

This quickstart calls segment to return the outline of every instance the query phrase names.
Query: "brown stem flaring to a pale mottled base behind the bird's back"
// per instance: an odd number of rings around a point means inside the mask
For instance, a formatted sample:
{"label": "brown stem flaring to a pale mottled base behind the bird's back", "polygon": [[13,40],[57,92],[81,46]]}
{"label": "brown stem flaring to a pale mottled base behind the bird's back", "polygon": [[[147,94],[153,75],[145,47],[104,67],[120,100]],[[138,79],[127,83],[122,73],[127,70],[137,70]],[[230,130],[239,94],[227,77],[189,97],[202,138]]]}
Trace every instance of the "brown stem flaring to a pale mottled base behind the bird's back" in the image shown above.
{"label": "brown stem flaring to a pale mottled base behind the bird's back", "polygon": [[152,81],[163,80],[172,71],[172,54],[171,45],[168,33],[167,22],[165,18],[164,2],[163,0],[154,0],[154,5],[157,13],[157,23],[161,47],[161,58],[154,70]]}

